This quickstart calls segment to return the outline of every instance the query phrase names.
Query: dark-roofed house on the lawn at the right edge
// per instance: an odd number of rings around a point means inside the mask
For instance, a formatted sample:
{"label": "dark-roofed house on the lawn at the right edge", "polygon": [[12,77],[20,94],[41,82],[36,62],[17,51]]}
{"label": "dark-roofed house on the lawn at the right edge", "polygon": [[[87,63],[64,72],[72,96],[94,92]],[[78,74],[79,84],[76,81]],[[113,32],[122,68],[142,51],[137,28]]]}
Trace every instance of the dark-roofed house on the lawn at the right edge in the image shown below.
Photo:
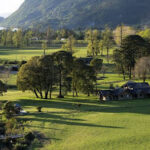
{"label": "dark-roofed house on the lawn at the right edge", "polygon": [[136,83],[129,81],[120,88],[99,91],[101,101],[129,100],[150,97],[148,83]]}

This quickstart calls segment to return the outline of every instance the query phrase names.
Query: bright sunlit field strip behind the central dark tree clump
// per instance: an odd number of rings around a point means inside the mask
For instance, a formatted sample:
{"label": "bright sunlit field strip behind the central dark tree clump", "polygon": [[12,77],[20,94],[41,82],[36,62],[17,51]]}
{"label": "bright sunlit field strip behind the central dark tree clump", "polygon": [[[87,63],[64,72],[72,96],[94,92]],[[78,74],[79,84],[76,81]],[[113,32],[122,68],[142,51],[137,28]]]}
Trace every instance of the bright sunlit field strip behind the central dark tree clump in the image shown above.
{"label": "bright sunlit field strip behind the central dark tree clump", "polygon": [[[51,54],[54,52],[57,52],[59,50],[62,50],[60,48],[50,48],[46,50],[46,54]],[[113,49],[110,50],[110,55],[112,55]],[[41,56],[43,55],[42,49],[0,49],[0,59],[2,60],[29,60],[33,56]],[[74,50],[74,56],[75,57],[86,57],[87,56],[87,47],[75,47]],[[100,56],[101,59],[103,59],[104,63],[107,63],[106,60],[106,51],[104,51],[104,56]],[[112,61],[110,60],[110,63]]]}

